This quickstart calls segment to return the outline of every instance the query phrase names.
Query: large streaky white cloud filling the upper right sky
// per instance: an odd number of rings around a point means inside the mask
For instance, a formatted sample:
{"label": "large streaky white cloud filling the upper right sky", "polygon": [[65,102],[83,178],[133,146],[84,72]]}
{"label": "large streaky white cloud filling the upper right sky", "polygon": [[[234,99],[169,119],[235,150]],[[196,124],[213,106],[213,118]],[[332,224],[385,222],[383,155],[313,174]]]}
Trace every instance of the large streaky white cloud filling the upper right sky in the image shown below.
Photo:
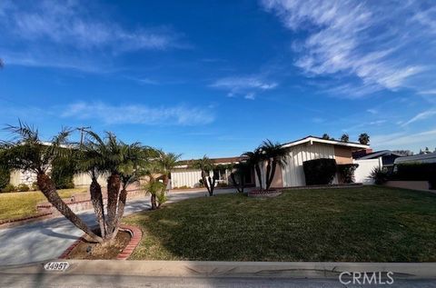
{"label": "large streaky white cloud filling the upper right sky", "polygon": [[422,28],[433,25],[431,9],[420,15],[416,11],[423,8],[409,2],[372,5],[348,0],[263,0],[262,4],[292,31],[306,32],[292,44],[297,54],[294,65],[305,74],[360,79],[360,84],[343,84],[332,93],[362,96],[381,89],[421,90],[412,79],[429,69],[420,59],[430,56],[425,47],[436,40],[427,32],[430,29]]}

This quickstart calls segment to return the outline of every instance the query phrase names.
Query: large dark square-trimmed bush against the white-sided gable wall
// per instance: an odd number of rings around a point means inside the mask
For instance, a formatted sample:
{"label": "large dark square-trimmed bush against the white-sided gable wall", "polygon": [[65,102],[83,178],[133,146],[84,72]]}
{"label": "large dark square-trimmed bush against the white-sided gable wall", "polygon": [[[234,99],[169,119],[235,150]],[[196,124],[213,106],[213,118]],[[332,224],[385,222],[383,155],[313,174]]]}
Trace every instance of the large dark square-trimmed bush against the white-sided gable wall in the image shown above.
{"label": "large dark square-trimmed bush against the white-sided gable wall", "polygon": [[302,163],[307,185],[331,184],[336,174],[334,159],[320,158]]}

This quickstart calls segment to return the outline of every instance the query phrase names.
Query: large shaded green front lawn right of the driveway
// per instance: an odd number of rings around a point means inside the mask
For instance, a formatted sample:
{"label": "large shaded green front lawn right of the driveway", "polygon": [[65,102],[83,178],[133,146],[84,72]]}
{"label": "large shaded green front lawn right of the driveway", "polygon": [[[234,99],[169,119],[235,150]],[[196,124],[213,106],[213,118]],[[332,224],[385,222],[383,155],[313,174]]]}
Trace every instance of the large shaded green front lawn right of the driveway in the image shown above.
{"label": "large shaded green front lawn right of the driveway", "polygon": [[377,186],[218,195],[133,214],[130,259],[436,261],[436,194]]}

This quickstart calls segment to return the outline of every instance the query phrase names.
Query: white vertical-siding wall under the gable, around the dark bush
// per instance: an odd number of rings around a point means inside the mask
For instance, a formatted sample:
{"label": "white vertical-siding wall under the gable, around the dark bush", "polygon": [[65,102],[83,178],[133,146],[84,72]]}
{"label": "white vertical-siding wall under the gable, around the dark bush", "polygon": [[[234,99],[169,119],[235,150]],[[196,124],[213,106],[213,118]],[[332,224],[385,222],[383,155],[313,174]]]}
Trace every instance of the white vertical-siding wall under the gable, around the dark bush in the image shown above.
{"label": "white vertical-siding wall under the gable, around the dark bush", "polygon": [[[284,187],[303,186],[306,184],[302,163],[304,161],[331,158],[334,159],[334,147],[331,144],[301,144],[290,148],[287,164],[282,167]],[[333,180],[336,183],[337,179]]]}

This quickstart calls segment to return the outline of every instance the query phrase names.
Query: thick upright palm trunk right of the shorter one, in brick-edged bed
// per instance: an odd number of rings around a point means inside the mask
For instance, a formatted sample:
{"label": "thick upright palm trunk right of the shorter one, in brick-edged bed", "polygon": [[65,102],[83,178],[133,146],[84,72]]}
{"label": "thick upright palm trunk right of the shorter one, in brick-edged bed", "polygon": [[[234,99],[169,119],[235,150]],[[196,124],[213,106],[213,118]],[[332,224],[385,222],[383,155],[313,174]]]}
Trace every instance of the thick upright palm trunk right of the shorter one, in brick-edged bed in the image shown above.
{"label": "thick upright palm trunk right of the shorter one, in brick-edged bed", "polygon": [[111,239],[115,230],[116,206],[120,194],[121,178],[119,174],[111,174],[107,179],[107,221],[106,239]]}

